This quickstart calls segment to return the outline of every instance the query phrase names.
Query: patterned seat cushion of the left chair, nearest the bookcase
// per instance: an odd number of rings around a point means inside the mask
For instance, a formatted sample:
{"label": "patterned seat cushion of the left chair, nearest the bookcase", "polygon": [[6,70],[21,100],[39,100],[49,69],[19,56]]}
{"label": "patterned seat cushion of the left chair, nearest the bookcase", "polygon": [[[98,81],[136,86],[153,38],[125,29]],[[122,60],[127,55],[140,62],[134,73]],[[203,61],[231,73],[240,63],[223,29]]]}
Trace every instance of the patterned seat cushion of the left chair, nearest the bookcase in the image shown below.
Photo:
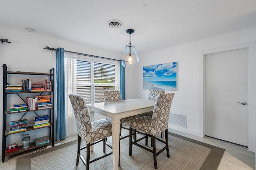
{"label": "patterned seat cushion of the left chair, nearest the bookcase", "polygon": [[86,143],[92,143],[100,139],[112,136],[111,121],[101,119],[92,122],[92,133],[87,135]]}

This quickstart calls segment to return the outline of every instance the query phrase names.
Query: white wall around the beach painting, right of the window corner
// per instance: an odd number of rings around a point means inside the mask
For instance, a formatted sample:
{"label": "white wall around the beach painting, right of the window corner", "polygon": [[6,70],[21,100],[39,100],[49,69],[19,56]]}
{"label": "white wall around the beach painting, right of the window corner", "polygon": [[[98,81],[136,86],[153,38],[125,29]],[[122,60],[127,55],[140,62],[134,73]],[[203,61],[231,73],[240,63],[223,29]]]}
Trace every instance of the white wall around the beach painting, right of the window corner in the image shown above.
{"label": "white wall around the beach painting, right of the window corner", "polygon": [[[137,68],[134,68],[134,86],[138,86],[138,89],[134,88],[134,98],[147,98],[148,90],[143,89],[143,66],[177,62],[177,91],[172,91],[175,96],[171,112],[187,115],[187,129],[169,127],[199,135],[199,107],[201,102],[199,75],[200,70],[203,70],[200,65],[200,57],[202,57],[200,51],[251,41],[256,41],[256,27],[140,55],[140,63]],[[255,106],[255,103],[253,105]],[[255,124],[251,128],[255,129]]]}

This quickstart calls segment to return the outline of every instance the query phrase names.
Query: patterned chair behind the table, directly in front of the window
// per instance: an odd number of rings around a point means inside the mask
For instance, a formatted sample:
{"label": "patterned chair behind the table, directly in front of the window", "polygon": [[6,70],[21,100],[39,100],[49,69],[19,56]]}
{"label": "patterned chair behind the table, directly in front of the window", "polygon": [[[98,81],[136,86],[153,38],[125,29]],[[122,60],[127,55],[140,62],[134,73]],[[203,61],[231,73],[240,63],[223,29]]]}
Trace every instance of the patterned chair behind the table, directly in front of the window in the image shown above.
{"label": "patterned chair behind the table, directly in front of the window", "polygon": [[[119,90],[104,90],[104,101],[105,102],[112,102],[112,101],[120,101],[121,100],[121,95]],[[122,133],[122,128],[129,130],[126,127],[122,127],[122,123],[129,123],[130,120],[136,119],[136,116],[130,116],[130,117],[124,117],[120,119],[120,136]],[[106,120],[111,121],[110,117],[106,117]],[[129,135],[126,135],[120,139],[124,139],[126,137],[129,137]]]}

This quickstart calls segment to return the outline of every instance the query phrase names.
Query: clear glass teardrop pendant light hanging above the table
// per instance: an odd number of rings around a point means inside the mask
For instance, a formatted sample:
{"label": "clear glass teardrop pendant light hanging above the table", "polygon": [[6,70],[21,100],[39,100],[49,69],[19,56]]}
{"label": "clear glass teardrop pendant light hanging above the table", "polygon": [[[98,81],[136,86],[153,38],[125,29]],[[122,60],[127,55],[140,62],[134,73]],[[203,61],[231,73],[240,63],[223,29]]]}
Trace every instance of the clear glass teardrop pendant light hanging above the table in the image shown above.
{"label": "clear glass teardrop pendant light hanging above the table", "polygon": [[127,29],[126,32],[130,34],[130,44],[126,45],[122,57],[122,65],[124,67],[136,67],[139,64],[139,57],[134,45],[131,45],[131,34],[133,29]]}

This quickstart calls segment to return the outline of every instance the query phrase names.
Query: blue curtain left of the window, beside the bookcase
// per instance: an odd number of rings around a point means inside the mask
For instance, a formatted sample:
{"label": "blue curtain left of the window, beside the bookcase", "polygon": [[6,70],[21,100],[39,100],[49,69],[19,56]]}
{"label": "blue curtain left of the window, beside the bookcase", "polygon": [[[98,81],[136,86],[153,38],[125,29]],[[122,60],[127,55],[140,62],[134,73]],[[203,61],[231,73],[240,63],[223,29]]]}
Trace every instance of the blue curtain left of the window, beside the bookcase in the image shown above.
{"label": "blue curtain left of the window, beside the bookcase", "polygon": [[64,73],[64,48],[56,51],[56,74],[57,74],[57,120],[56,135],[57,141],[66,139],[65,120],[65,73]]}

